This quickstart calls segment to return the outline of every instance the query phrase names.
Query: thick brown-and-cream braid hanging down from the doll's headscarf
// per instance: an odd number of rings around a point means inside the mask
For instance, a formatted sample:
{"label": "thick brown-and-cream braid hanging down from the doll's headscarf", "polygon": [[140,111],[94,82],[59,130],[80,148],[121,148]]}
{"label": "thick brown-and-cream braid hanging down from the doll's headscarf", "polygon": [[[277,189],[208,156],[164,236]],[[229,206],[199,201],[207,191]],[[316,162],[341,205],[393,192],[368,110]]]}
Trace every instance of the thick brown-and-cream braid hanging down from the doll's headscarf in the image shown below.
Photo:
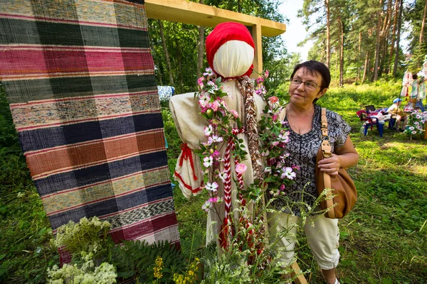
{"label": "thick brown-and-cream braid hanging down from the doll's headscarf", "polygon": [[253,99],[254,86],[252,80],[248,76],[243,76],[236,80],[236,86],[240,90],[245,102],[246,114],[246,136],[248,136],[248,151],[251,155],[251,163],[253,168],[253,178],[262,178],[262,168],[258,141],[258,129],[256,121],[255,100]]}

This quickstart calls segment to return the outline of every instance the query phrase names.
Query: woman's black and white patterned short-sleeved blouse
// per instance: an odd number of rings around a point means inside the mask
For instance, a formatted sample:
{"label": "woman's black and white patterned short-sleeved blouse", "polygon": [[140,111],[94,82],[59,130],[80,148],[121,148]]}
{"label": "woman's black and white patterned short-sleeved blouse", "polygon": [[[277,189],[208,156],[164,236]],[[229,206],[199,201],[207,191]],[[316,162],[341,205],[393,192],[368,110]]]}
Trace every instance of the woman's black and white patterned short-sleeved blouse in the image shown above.
{"label": "woman's black and white patterned short-sleeved blouse", "polygon": [[[315,104],[312,130],[300,135],[290,129],[290,141],[285,148],[285,151],[290,153],[289,157],[285,159],[286,166],[300,167],[300,170],[295,170],[297,175],[294,178],[295,183],[285,188],[286,195],[294,202],[301,202],[303,200],[310,207],[313,206],[318,197],[315,186],[315,164],[317,152],[319,151],[320,143],[322,143],[322,131],[320,130],[321,112],[322,108]],[[327,110],[326,116],[328,123],[327,130],[330,136],[333,153],[335,148],[344,145],[351,129],[339,114]],[[284,120],[288,121],[288,117],[285,117]],[[272,204],[276,209],[283,209],[284,212],[300,216],[299,206],[290,207],[284,200],[281,200],[280,197],[274,200]],[[305,210],[307,211],[307,208],[305,208]]]}

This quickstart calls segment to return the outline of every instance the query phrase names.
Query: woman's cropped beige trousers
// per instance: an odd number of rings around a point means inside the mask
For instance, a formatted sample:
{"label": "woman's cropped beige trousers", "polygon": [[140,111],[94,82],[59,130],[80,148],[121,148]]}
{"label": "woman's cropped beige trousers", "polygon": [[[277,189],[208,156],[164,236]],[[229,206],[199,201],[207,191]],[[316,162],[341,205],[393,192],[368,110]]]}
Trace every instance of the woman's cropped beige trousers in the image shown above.
{"label": "woman's cropped beige trousers", "polygon": [[[276,242],[277,252],[283,267],[295,261],[295,242],[300,217],[283,212],[268,212],[269,234]],[[327,219],[316,215],[306,219],[305,236],[320,268],[330,270],[337,267],[339,261],[338,219]],[[280,248],[280,249],[279,249]]]}

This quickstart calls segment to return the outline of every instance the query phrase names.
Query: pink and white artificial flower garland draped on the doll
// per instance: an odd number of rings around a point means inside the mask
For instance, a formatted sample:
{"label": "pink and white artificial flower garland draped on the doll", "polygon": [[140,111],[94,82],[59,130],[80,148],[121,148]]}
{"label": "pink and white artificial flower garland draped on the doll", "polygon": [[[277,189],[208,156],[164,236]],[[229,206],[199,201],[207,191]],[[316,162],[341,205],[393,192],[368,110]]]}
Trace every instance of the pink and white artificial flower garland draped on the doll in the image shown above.
{"label": "pink and white artificial flower garland draped on the doll", "polygon": [[[209,122],[209,126],[204,129],[207,141],[201,141],[199,150],[195,152],[201,153],[203,156],[202,168],[204,174],[207,175],[206,180],[208,180],[203,188],[208,190],[209,200],[206,200],[202,209],[208,212],[215,203],[224,202],[223,198],[218,197],[217,194],[218,182],[223,182],[224,187],[226,187],[226,180],[231,178],[225,171],[219,170],[220,163],[225,163],[226,158],[220,157],[218,143],[231,141],[233,144],[230,155],[235,160],[237,175],[242,175],[247,170],[246,165],[241,163],[246,159],[247,149],[243,145],[243,140],[236,136],[237,133],[242,133],[244,128],[238,112],[228,109],[226,106],[224,97],[228,93],[224,92],[222,78],[216,75],[211,68],[206,68],[205,71],[203,76],[197,80],[199,92],[196,92],[195,95],[199,99],[200,114]],[[255,180],[254,184],[249,185],[247,190],[239,192],[250,200],[260,197],[267,184],[271,189],[270,195],[274,197],[286,195],[286,186],[295,178],[294,170],[297,170],[297,167],[285,166],[285,159],[289,155],[284,151],[286,143],[289,142],[289,126],[286,122],[278,119],[280,112],[285,107],[285,101],[268,94],[263,85],[267,78],[268,71],[265,71],[256,80],[258,88],[255,89],[255,94],[263,97],[266,102],[263,109],[264,115],[259,121],[259,139],[260,153],[267,167],[263,170],[263,179]],[[224,168],[227,168],[227,165]],[[241,180],[235,180],[235,182],[238,183],[237,187],[242,190]],[[227,200],[225,201],[227,202]]]}

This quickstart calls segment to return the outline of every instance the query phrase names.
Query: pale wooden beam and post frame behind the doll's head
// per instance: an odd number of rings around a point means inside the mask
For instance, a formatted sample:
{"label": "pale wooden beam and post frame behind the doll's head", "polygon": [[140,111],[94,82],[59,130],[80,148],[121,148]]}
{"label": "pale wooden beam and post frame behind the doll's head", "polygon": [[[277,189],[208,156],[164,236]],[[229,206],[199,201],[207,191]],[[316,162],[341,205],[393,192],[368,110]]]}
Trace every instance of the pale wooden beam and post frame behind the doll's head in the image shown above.
{"label": "pale wooden beam and post frame behind the doll's head", "polygon": [[284,23],[186,0],[145,0],[145,11],[148,18],[156,20],[207,27],[215,27],[218,23],[234,21],[251,27],[253,41],[255,42],[255,59],[253,60],[255,72],[253,77],[258,77],[258,74],[263,72],[261,36],[276,36],[286,31]]}

